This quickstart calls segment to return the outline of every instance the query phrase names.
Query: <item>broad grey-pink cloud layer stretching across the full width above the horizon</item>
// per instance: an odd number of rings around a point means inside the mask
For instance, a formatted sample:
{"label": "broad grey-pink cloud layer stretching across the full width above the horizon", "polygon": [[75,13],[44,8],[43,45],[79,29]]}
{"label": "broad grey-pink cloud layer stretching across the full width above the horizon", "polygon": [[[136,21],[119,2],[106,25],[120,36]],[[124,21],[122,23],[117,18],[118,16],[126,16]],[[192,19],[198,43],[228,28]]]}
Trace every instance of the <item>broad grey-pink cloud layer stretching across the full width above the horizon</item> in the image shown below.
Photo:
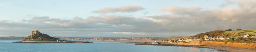
{"label": "broad grey-pink cloud layer stretching across the full width above the horizon", "polygon": [[[130,15],[99,15],[86,18],[74,17],[72,19],[61,19],[49,16],[37,16],[30,19],[23,19],[20,22],[10,20],[0,21],[0,31],[1,34],[15,35],[13,32],[24,34],[28,32],[27,34],[29,34],[31,30],[37,28],[45,32],[45,34],[55,34],[55,36],[64,34],[64,36],[71,37],[129,37],[145,35],[153,37],[193,35],[213,30],[237,28],[250,30],[256,26],[256,5],[254,0],[230,1],[230,3],[224,4],[223,6],[232,4],[237,4],[238,6],[215,9],[169,6],[158,9],[159,11],[168,11],[169,14],[140,17]],[[116,10],[101,10],[108,11],[105,13],[132,11],[122,11],[119,9],[122,7],[115,8]],[[103,11],[100,12],[101,10],[98,10],[98,12],[104,13]],[[32,15],[29,16],[31,17]]]}

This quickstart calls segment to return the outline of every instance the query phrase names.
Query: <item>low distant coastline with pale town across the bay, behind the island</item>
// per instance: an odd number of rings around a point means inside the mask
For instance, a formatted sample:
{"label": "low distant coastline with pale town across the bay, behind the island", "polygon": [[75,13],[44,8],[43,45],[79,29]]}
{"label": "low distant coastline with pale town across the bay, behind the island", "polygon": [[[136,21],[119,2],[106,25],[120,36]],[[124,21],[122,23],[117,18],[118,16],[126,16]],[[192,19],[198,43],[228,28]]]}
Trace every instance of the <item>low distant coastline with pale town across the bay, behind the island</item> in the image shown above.
{"label": "low distant coastline with pale town across the bay, behind the island", "polygon": [[[91,40],[91,41],[161,41],[172,38],[185,38],[189,36],[172,37],[56,37],[62,40]],[[22,40],[26,37],[0,37],[0,40]]]}

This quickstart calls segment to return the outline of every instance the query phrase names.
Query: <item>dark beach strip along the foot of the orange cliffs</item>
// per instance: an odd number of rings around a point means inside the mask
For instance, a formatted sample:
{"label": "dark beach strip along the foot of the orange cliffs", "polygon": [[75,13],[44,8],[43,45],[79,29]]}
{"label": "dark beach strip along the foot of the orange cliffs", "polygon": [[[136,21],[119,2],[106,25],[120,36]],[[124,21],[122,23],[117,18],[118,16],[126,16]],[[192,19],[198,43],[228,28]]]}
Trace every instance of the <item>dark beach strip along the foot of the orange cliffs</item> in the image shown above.
{"label": "dark beach strip along the foot of the orange cliffs", "polygon": [[225,46],[209,46],[209,45],[178,45],[178,44],[135,44],[135,45],[154,45],[154,46],[180,46],[180,47],[197,47],[197,48],[210,48],[219,51],[229,52],[254,52],[256,49],[240,48],[240,47],[225,47]]}

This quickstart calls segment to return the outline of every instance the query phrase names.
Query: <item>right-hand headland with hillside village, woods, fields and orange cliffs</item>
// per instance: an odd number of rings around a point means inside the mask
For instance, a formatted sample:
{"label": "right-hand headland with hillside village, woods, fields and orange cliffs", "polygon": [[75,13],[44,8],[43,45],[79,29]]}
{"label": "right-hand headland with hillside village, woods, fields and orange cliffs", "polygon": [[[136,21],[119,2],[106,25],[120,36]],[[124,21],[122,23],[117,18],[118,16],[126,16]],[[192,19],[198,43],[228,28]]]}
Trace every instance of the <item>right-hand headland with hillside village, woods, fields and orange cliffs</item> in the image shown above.
{"label": "right-hand headland with hillside village, woods, fields and orange cliffs", "polygon": [[200,47],[230,52],[255,52],[256,30],[216,30],[187,38],[173,38],[161,42],[144,42],[136,45]]}

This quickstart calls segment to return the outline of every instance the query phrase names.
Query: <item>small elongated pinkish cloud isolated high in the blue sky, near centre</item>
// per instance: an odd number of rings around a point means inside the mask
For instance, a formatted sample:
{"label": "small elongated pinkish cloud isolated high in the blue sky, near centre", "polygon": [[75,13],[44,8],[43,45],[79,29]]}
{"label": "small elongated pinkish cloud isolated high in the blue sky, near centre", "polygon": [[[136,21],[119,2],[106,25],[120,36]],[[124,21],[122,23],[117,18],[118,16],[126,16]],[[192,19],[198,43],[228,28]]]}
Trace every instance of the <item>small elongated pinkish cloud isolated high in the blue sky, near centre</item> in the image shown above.
{"label": "small elongated pinkish cloud isolated high in the blue sky, near centre", "polygon": [[145,8],[142,6],[139,6],[139,5],[125,5],[125,6],[120,6],[117,8],[107,7],[107,8],[92,11],[92,13],[106,14],[109,12],[113,12],[113,13],[115,13],[115,12],[133,12],[133,11],[139,11],[139,10],[143,10],[143,9],[145,9]]}

